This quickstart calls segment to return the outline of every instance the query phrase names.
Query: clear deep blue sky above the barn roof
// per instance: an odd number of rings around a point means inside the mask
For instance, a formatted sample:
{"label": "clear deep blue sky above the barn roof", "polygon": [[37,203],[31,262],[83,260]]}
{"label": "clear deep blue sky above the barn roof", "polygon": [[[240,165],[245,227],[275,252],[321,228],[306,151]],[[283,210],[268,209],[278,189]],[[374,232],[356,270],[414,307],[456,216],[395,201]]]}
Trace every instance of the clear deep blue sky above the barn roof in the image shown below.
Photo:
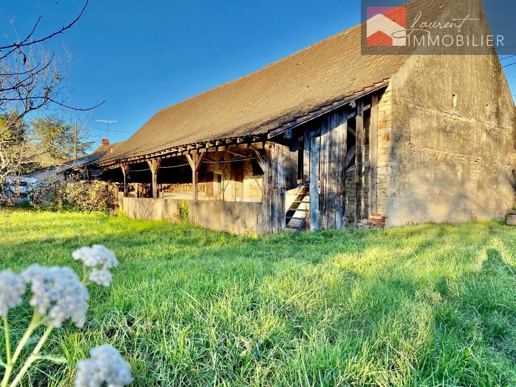
{"label": "clear deep blue sky above the barn roof", "polygon": [[[39,35],[68,24],[80,0],[3,0],[0,28],[23,35],[43,15]],[[360,21],[360,1],[90,0],[83,18],[52,41],[80,61],[70,77],[76,106],[107,102],[90,126],[133,133],[157,110],[260,69]],[[514,58],[512,58],[514,59]],[[503,61],[510,63],[511,59]],[[515,86],[516,66],[506,69]],[[105,131],[90,129],[99,140]],[[111,142],[129,133],[110,133]]]}

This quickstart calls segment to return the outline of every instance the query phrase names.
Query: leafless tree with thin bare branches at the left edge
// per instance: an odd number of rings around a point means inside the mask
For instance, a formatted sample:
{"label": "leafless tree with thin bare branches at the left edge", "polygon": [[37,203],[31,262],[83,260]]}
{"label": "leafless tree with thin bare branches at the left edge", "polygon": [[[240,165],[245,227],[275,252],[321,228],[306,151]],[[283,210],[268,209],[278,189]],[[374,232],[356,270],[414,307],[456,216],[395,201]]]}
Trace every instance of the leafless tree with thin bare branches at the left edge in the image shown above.
{"label": "leafless tree with thin bare branches at the left edge", "polygon": [[16,38],[6,36],[7,44],[0,46],[0,190],[7,176],[19,175],[22,166],[35,162],[53,146],[52,143],[38,144],[31,136],[23,121],[27,114],[52,107],[91,111],[104,103],[91,107],[73,106],[66,85],[73,65],[72,57],[66,48],[64,55],[60,55],[45,45],[78,22],[88,2],[66,26],[37,37],[40,17],[25,36],[20,37],[14,32]]}

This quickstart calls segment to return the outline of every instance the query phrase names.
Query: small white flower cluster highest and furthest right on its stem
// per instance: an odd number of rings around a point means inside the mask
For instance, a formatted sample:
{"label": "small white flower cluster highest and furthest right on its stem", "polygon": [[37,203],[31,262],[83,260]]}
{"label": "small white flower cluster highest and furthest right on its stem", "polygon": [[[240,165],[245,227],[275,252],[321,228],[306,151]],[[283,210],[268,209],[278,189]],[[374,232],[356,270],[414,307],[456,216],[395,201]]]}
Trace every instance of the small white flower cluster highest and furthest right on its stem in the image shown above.
{"label": "small white flower cluster highest and furthest right on its stem", "polygon": [[82,247],[72,254],[73,259],[82,261],[90,268],[88,279],[99,285],[109,286],[113,276],[109,269],[118,266],[115,254],[101,245]]}

